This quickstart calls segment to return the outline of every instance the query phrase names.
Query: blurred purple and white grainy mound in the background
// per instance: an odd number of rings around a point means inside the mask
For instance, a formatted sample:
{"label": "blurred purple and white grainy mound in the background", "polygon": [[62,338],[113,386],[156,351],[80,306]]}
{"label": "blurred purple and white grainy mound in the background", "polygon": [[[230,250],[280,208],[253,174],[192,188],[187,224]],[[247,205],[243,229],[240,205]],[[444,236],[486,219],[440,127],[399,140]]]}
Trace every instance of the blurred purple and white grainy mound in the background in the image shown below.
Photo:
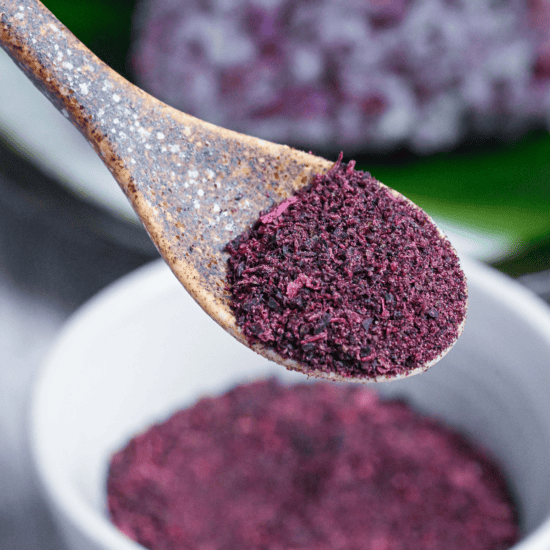
{"label": "blurred purple and white grainy mound in the background", "polygon": [[302,148],[449,149],[550,126],[548,0],[142,0],[136,80]]}

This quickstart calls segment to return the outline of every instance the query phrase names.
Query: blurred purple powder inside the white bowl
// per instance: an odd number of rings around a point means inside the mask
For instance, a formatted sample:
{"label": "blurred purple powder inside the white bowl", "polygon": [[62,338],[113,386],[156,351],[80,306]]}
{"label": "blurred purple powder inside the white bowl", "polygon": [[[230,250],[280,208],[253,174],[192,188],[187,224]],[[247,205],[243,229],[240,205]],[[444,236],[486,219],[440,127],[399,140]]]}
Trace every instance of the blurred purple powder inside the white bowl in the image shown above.
{"label": "blurred purple powder inside the white bowl", "polygon": [[357,386],[275,380],[205,398],[136,436],[108,506],[151,550],[504,550],[518,538],[495,464]]}

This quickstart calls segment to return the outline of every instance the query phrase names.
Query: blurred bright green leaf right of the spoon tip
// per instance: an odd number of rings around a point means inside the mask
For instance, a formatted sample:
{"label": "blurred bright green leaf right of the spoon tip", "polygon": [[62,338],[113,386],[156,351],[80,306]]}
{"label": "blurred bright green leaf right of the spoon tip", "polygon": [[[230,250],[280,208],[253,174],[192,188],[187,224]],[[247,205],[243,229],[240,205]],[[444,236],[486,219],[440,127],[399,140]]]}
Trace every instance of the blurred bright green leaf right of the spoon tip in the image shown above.
{"label": "blurred bright green leaf right of the spoon tip", "polygon": [[528,243],[550,234],[550,134],[511,143],[362,160],[370,171],[434,216]]}

